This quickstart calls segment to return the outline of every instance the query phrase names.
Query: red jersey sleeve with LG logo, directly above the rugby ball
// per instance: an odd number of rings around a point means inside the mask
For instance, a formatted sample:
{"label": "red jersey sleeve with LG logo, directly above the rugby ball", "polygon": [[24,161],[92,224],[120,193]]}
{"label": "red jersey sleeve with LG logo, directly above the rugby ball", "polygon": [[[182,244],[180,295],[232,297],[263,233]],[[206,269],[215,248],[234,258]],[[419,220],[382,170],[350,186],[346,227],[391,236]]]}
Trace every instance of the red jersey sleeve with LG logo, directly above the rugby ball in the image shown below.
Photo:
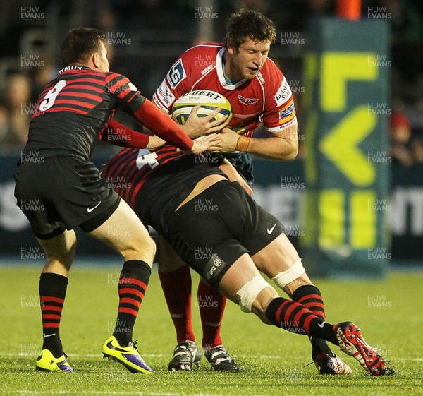
{"label": "red jersey sleeve with LG logo, directly above the rugby ball", "polygon": [[173,102],[178,97],[190,92],[190,66],[192,62],[190,50],[184,52],[170,68],[166,77],[152,97],[152,102],[159,109],[170,112]]}

